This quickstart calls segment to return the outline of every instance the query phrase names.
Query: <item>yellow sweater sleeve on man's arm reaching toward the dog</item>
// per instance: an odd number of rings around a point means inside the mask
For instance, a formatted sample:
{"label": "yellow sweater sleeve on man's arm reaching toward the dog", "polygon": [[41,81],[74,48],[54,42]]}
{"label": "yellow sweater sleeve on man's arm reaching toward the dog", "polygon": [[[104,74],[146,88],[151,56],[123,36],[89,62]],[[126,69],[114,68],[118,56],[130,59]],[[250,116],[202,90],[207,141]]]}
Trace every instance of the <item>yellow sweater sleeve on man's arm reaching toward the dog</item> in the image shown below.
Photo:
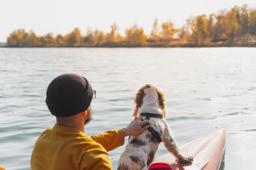
{"label": "yellow sweater sleeve on man's arm reaching toward the dog", "polygon": [[90,136],[92,140],[100,143],[107,152],[122,146],[125,143],[125,133],[123,130],[111,130],[105,133]]}

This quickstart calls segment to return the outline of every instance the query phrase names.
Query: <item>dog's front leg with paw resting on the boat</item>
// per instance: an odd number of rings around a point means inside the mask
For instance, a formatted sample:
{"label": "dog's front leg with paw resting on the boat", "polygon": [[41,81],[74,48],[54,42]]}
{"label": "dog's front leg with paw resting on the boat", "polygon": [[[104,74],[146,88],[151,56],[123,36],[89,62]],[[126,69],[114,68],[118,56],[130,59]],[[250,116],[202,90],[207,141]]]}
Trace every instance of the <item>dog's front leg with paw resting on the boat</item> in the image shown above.
{"label": "dog's front leg with paw resting on the boat", "polygon": [[192,156],[185,156],[180,153],[180,150],[175,142],[175,139],[170,132],[170,128],[165,121],[165,132],[163,134],[163,143],[166,149],[176,157],[176,161],[180,164],[189,164],[193,161]]}

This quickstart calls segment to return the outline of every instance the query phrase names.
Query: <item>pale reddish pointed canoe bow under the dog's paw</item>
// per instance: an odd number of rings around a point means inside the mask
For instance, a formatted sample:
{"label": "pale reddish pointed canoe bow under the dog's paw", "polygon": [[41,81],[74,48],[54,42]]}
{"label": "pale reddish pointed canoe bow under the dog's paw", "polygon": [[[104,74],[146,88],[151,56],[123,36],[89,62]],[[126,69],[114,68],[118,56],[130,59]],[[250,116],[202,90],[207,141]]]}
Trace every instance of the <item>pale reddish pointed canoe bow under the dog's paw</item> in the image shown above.
{"label": "pale reddish pointed canoe bow under the dog's paw", "polygon": [[149,169],[151,170],[199,170],[220,169],[220,164],[225,159],[226,133],[224,128],[205,137],[187,143],[180,148],[185,155],[192,155],[191,164],[178,164],[171,154],[164,154],[154,159]]}

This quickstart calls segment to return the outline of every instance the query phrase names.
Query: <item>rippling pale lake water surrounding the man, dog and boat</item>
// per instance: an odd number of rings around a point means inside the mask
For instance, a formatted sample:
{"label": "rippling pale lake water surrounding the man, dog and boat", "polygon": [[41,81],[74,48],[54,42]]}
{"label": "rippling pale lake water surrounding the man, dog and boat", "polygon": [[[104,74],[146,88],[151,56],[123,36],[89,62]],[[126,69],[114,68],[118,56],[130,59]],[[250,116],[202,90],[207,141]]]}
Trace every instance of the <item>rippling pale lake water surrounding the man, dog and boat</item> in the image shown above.
{"label": "rippling pale lake water surrounding the man, dog and boat", "polygon": [[[86,135],[126,127],[136,91],[152,83],[179,147],[225,128],[225,169],[255,169],[256,48],[0,48],[0,167],[30,169],[34,142],[55,124],[46,88],[63,73],[97,90]],[[125,145],[109,152],[113,169]],[[166,152],[161,143],[156,156]]]}

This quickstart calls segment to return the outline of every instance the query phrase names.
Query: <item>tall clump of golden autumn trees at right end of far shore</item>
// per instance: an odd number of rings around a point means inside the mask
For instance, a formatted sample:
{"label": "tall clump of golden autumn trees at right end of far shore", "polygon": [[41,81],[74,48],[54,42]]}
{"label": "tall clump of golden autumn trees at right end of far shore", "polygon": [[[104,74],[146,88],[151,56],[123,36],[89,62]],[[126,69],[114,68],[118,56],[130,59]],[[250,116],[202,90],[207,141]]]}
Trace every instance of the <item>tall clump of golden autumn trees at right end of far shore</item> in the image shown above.
{"label": "tall clump of golden autumn trees at right end of far shore", "polygon": [[228,42],[250,39],[256,35],[256,9],[248,9],[245,4],[209,16],[191,16],[179,35],[183,39],[189,36],[197,44],[204,43],[206,39],[227,39]]}

